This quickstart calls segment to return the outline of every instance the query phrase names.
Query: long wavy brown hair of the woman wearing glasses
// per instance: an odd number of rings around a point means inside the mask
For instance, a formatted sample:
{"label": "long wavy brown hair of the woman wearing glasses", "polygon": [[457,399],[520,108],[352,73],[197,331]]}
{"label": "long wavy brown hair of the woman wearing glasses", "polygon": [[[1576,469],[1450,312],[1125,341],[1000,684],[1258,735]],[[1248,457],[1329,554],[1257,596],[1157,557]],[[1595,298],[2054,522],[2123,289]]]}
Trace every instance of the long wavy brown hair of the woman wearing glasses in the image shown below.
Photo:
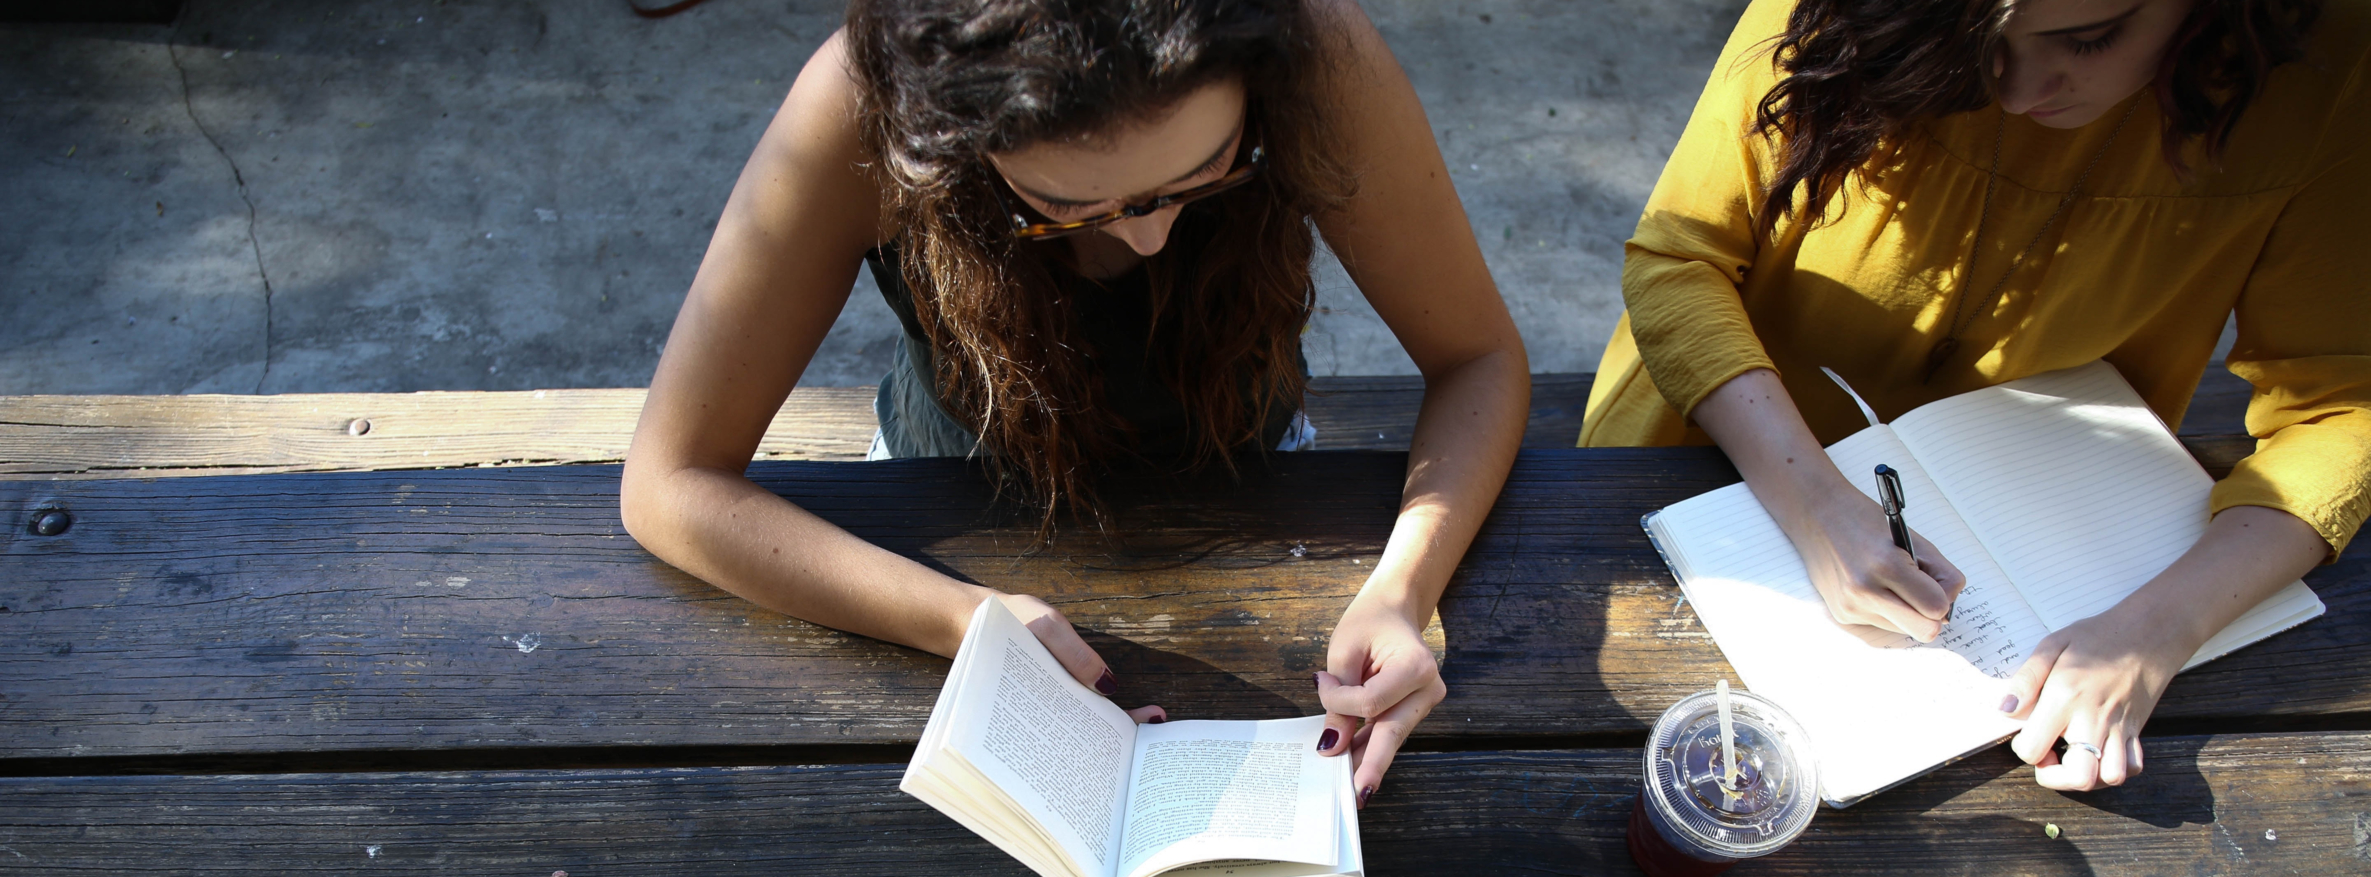
{"label": "long wavy brown hair of the woman wearing glasses", "polygon": [[1311,218],[1351,190],[1318,95],[1333,52],[1299,0],[856,0],[846,33],[941,403],[1046,533],[1057,505],[1100,514],[1095,474],[1138,436],[1072,320],[1072,247],[1012,237],[991,152],[1093,142],[1240,81],[1264,168],[1186,206],[1148,258],[1145,365],[1190,415],[1190,467],[1231,467],[1299,403]]}

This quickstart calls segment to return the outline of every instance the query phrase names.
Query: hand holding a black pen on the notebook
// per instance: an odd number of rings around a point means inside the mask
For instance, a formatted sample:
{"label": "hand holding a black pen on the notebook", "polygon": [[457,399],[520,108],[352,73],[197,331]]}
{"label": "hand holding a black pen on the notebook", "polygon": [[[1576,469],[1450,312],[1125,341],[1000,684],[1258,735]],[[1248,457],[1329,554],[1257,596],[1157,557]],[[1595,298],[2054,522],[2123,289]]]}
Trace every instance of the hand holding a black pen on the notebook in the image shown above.
{"label": "hand holding a black pen on the notebook", "polygon": [[1968,588],[1968,576],[1916,531],[1911,543],[1918,545],[1918,562],[1911,562],[1894,545],[1885,510],[1861,491],[1838,486],[1821,493],[1807,502],[1802,521],[1783,529],[1811,569],[1811,585],[1828,602],[1828,616],[1918,642],[1942,635],[1942,619]]}

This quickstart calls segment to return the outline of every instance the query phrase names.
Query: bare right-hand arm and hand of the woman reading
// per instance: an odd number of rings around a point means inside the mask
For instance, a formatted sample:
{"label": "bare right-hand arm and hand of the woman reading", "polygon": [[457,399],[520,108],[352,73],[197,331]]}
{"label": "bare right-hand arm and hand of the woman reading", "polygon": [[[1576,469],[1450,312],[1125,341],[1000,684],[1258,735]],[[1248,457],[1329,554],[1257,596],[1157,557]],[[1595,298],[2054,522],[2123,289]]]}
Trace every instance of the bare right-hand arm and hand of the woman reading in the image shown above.
{"label": "bare right-hand arm and hand of the woman reading", "polygon": [[1321,14],[1349,47],[1333,85],[1359,194],[1318,228],[1425,375],[1399,519],[1318,676],[1363,801],[1446,694],[1423,628],[1515,462],[1532,375],[1406,73],[1356,5]]}

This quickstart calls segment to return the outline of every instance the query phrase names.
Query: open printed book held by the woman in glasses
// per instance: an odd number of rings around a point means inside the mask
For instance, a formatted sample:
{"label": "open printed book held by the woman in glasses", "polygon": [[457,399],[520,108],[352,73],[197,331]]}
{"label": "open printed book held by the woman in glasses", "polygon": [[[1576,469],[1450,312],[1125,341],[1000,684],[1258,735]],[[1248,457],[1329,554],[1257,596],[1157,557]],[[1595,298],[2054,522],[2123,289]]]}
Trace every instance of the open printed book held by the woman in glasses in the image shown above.
{"label": "open printed book held by the woman in glasses", "polygon": [[1046,877],[1361,875],[1325,716],[1138,725],[984,600],[899,789]]}

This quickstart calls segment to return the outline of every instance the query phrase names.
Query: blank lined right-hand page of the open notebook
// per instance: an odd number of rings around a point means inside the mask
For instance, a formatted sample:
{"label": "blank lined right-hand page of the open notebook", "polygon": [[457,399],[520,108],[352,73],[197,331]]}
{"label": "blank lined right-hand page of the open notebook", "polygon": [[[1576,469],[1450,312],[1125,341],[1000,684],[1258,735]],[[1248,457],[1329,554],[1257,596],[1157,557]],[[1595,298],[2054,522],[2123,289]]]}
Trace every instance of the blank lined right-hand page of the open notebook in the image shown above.
{"label": "blank lined right-hand page of the open notebook", "polygon": [[2053,630],[2172,566],[2215,479],[2108,363],[1951,396],[1894,420]]}

